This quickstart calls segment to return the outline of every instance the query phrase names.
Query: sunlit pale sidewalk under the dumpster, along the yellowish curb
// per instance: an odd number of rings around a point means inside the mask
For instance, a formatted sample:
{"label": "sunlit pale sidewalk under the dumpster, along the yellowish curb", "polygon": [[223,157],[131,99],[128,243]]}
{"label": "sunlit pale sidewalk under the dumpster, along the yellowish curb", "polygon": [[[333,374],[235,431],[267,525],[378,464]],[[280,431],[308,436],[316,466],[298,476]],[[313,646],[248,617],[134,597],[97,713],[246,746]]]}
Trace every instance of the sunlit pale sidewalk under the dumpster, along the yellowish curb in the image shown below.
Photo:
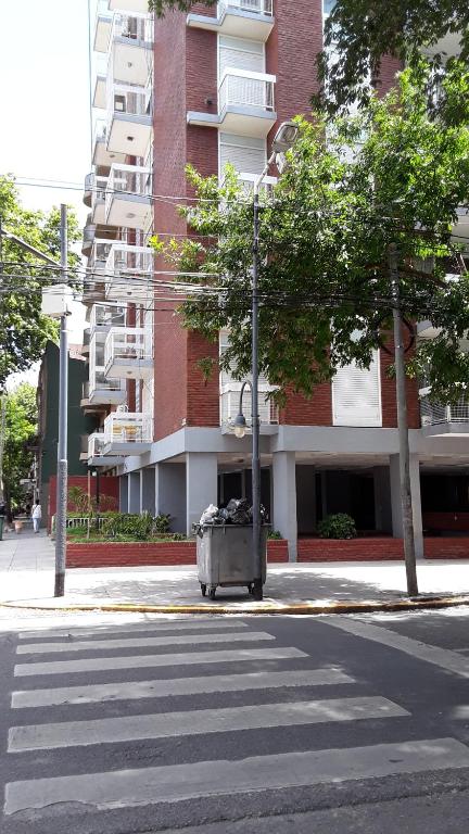
{"label": "sunlit pale sidewalk under the dumpster, along the yellowish curb", "polygon": [[[418,579],[423,595],[458,597],[451,602],[469,604],[469,560],[419,564]],[[400,607],[400,601],[408,606],[404,564],[390,561],[272,565],[268,568],[263,603],[254,603],[242,587],[218,589],[212,603],[201,596],[197,569],[187,566],[73,569],[66,572],[63,598],[54,599],[53,587],[54,549],[45,532],[8,533],[0,542],[0,604],[110,610],[116,606],[177,610],[197,607],[261,612],[305,606],[322,612],[329,608],[334,612],[353,610],[354,606],[372,610]]]}

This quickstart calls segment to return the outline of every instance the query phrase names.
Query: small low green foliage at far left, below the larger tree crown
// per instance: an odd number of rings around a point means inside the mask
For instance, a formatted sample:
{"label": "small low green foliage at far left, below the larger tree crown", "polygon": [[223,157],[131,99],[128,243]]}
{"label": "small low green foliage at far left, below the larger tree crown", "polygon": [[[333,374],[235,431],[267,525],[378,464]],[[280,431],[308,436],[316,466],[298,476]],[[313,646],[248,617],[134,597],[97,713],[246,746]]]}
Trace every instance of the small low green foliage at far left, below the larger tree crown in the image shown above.
{"label": "small low green foliage at far left, below the larger tree crown", "polygon": [[28,478],[34,452],[30,446],[37,435],[38,412],[36,389],[28,382],[4,394],[5,435],[3,446],[3,485],[8,503],[17,506],[24,502],[22,478]]}

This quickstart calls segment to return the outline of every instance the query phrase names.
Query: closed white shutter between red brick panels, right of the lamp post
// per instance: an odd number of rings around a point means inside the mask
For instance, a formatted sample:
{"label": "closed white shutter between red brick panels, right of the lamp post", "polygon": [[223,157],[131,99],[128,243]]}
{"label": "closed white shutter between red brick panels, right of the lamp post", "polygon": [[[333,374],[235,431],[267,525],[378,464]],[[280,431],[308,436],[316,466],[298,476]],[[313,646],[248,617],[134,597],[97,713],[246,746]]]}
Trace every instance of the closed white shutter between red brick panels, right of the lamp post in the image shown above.
{"label": "closed white shutter between red brick panels, right of the lamp post", "polygon": [[382,426],[378,351],[368,370],[354,362],[338,370],[332,380],[332,412],[334,426]]}

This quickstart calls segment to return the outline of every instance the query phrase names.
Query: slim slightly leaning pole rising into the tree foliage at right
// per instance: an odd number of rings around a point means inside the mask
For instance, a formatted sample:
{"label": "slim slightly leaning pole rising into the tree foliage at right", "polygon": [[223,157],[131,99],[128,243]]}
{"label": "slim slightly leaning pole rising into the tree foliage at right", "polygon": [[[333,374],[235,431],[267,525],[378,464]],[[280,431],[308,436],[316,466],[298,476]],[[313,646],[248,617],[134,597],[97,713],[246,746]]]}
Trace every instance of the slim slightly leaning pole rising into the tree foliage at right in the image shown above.
{"label": "slim slightly leaning pole rising into the tree foliage at right", "polygon": [[407,574],[407,593],[418,596],[417,568],[415,555],[414,515],[410,490],[410,450],[407,424],[407,396],[405,381],[404,340],[402,332],[401,293],[398,278],[398,252],[395,243],[388,249],[393,300],[394,323],[394,363],[396,378],[397,431],[400,444],[400,483],[404,531],[404,557]]}

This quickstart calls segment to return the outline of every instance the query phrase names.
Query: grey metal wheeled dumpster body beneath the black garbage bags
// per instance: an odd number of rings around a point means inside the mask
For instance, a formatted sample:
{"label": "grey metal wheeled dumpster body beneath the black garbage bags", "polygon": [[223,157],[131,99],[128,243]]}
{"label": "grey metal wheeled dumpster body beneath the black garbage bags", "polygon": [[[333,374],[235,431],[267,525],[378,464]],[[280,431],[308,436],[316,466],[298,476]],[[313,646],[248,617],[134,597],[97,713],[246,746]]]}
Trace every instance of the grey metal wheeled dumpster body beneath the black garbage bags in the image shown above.
{"label": "grey metal wheeled dumpster body beneath the black garbage bags", "polygon": [[[267,533],[261,528],[262,581],[266,580]],[[202,596],[215,599],[216,589],[245,585],[252,593],[254,554],[252,525],[202,525],[197,535],[198,578]]]}

